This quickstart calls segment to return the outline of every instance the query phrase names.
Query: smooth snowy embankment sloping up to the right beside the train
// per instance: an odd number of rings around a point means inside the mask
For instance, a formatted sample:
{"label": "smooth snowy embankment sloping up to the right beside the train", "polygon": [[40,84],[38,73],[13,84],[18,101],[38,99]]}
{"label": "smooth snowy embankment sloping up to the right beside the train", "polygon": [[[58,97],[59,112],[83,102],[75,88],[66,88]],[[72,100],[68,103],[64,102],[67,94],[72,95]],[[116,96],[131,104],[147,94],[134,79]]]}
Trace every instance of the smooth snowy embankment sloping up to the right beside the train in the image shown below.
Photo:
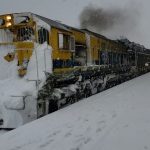
{"label": "smooth snowy embankment sloping up to the right beside the train", "polygon": [[0,149],[150,149],[150,73],[2,135]]}

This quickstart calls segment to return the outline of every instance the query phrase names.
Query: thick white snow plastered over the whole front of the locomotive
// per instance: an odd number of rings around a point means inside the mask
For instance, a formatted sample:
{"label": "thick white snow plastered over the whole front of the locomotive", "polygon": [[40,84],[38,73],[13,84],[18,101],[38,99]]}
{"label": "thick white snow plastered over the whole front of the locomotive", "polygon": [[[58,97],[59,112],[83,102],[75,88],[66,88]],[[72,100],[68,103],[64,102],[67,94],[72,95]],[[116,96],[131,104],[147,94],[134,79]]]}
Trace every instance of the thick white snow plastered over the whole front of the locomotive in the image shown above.
{"label": "thick white snow plastered over the whole front of the locomotive", "polygon": [[0,46],[0,119],[4,120],[4,125],[0,126],[2,128],[16,128],[37,118],[36,81],[39,81],[41,87],[45,81],[45,72],[52,71],[51,47],[47,43],[35,44],[27,75],[20,78],[17,56],[12,62],[4,59],[14,49],[12,46]]}

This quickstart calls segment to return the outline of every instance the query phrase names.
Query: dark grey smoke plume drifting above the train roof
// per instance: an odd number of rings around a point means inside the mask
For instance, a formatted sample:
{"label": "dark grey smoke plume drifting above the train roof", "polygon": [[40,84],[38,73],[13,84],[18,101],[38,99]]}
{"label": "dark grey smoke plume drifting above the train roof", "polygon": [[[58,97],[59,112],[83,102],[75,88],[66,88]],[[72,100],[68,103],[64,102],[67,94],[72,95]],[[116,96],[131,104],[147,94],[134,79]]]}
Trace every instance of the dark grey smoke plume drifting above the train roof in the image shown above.
{"label": "dark grey smoke plume drifting above the train roof", "polygon": [[132,4],[128,4],[124,8],[111,7],[107,9],[87,6],[80,14],[81,28],[86,28],[111,38],[128,37],[137,30],[140,15],[137,5]]}

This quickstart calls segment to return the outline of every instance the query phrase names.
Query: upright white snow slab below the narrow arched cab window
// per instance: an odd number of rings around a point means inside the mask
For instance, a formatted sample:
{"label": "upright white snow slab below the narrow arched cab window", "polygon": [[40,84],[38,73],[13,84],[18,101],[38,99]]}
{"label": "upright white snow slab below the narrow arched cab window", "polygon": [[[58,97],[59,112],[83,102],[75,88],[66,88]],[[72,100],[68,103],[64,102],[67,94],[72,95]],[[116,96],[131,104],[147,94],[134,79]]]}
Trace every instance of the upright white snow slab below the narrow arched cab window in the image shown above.
{"label": "upright white snow slab below the narrow arched cab window", "polygon": [[47,43],[44,43],[36,45],[35,49],[28,65],[27,79],[43,80],[45,72],[52,72],[51,47],[47,46]]}

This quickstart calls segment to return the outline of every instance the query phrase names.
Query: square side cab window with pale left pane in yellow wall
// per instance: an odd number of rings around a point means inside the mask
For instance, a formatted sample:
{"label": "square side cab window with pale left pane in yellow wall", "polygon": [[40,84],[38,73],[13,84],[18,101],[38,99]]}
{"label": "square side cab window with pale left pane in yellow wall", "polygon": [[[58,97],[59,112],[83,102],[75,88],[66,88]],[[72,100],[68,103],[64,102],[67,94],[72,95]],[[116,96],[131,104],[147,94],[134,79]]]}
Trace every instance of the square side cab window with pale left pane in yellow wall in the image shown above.
{"label": "square side cab window with pale left pane in yellow wall", "polygon": [[75,50],[75,39],[70,35],[59,33],[59,49]]}

